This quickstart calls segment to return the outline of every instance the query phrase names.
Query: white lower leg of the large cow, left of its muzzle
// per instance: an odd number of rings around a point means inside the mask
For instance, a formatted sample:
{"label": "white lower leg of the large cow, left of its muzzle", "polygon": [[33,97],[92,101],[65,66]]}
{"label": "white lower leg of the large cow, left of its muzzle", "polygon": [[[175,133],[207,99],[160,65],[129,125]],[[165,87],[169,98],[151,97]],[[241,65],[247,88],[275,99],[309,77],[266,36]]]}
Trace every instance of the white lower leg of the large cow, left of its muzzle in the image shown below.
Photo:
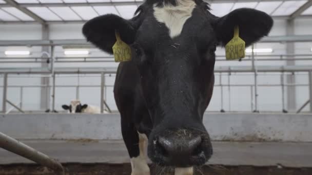
{"label": "white lower leg of the large cow, left of its muzzle", "polygon": [[135,158],[131,158],[131,175],[150,175],[150,170],[147,165],[147,137],[145,134],[139,134],[139,148],[140,155]]}

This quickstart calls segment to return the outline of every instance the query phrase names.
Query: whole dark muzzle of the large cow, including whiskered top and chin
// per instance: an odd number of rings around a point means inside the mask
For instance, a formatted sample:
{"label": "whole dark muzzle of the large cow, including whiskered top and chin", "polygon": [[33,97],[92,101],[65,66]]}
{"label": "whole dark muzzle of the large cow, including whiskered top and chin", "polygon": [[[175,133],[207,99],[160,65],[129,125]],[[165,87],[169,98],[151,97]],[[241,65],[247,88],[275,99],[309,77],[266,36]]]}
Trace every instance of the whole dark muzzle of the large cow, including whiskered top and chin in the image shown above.
{"label": "whole dark muzzle of the large cow, including whiskered top and chin", "polygon": [[155,136],[148,146],[148,156],[162,166],[190,167],[202,165],[212,155],[208,133],[174,129]]}

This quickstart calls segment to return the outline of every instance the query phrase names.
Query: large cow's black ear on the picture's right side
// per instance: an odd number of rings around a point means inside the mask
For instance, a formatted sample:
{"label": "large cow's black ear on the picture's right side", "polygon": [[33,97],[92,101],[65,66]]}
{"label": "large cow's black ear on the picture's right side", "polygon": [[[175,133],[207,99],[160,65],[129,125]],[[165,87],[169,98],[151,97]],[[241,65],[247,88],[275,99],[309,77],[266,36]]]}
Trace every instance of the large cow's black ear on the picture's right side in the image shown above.
{"label": "large cow's black ear on the picture's right side", "polygon": [[234,34],[235,26],[239,27],[239,36],[246,42],[246,47],[268,35],[273,25],[273,19],[266,13],[242,8],[218,18],[214,24],[218,40],[225,46]]}

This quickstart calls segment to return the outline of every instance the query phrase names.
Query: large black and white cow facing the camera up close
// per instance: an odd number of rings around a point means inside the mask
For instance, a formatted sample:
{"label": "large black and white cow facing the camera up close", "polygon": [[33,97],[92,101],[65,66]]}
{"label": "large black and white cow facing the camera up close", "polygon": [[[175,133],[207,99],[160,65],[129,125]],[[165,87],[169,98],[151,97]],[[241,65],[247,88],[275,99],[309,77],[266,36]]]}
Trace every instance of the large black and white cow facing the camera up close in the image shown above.
{"label": "large black and white cow facing the camera up close", "polygon": [[[121,62],[114,96],[121,114],[132,175],[150,174],[146,163],[192,174],[212,155],[203,114],[214,84],[217,46],[225,46],[239,26],[246,46],[267,35],[272,18],[254,9],[223,17],[202,0],[146,0],[132,19],[113,14],[95,17],[83,27],[88,41],[112,54],[115,31],[131,47],[132,60]],[[222,126],[220,126],[222,127]]]}

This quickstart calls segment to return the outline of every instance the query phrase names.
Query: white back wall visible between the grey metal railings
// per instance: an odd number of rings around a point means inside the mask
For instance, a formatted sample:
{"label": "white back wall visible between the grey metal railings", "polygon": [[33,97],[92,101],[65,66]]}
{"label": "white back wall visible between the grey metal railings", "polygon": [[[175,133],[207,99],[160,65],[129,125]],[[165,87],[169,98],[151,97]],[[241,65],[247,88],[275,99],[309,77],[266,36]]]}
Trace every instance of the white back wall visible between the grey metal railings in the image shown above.
{"label": "white back wall visible between the grey metal railings", "polygon": [[[286,35],[286,21],[283,19],[275,20],[274,27],[270,32],[270,36]],[[83,39],[81,33],[82,24],[71,25],[50,25],[50,39]],[[41,26],[40,25],[0,25],[0,40],[21,40],[21,39],[41,39]],[[295,34],[312,34],[312,19],[297,19],[295,22]],[[285,54],[285,43],[257,43],[256,48],[272,48],[273,54]],[[311,54],[310,48],[312,42],[296,43],[296,54]],[[4,57],[4,51],[8,49],[20,49],[12,47],[0,47],[0,57]],[[24,48],[29,49],[32,52],[32,56],[40,56],[41,47]],[[90,56],[109,56],[100,50],[91,49]],[[63,49],[61,47],[55,48],[56,56],[64,56]],[[218,48],[217,55],[225,55],[223,48]],[[285,62],[281,61],[258,61],[258,65],[285,65]],[[296,61],[297,65],[312,64],[311,61]],[[56,67],[116,67],[116,63],[56,63]],[[218,61],[216,67],[222,65],[251,65],[250,61]],[[37,64],[0,64],[0,68],[7,67],[40,67]],[[1,75],[0,75],[1,76]],[[65,76],[65,77],[64,77]],[[57,77],[57,85],[100,85],[99,75],[94,77],[82,77],[77,78],[77,75],[64,75],[63,77]],[[69,77],[70,76],[70,77]],[[90,75],[88,75],[90,76]],[[78,80],[79,79],[79,80]],[[114,75],[106,78],[106,84],[113,85]],[[296,79],[297,83],[307,83],[307,75],[298,75]],[[222,83],[227,84],[228,76],[223,74]],[[259,84],[278,84],[280,82],[280,74],[260,74]],[[216,74],[216,84],[219,84],[219,74]],[[252,74],[232,74],[230,76],[231,84],[253,84]],[[0,77],[0,85],[3,85],[3,79]],[[9,78],[9,85],[40,85],[40,78],[30,78],[25,75]],[[2,88],[0,88],[0,98],[2,98]],[[251,109],[251,93],[249,87],[231,87],[230,96],[228,88],[223,88],[224,92],[224,110],[229,111],[250,111]],[[68,103],[71,99],[75,98],[75,88],[56,88],[56,109],[61,110],[61,105]],[[209,111],[220,111],[221,99],[220,99],[220,87],[214,89],[214,95]],[[307,100],[307,87],[297,88],[297,106],[302,105]],[[12,102],[18,102],[19,89],[10,88],[8,91],[8,99]],[[40,89],[25,88],[24,89],[24,105],[27,110],[38,110],[40,107]],[[100,88],[81,88],[80,98],[83,103],[89,103],[93,105],[100,105]],[[230,105],[229,105],[230,99]],[[287,101],[285,97],[285,101]],[[107,88],[107,102],[113,110],[116,110],[116,106],[113,100],[112,88]],[[0,106],[2,105],[0,100]],[[259,110],[260,111],[281,111],[281,88],[280,87],[260,87],[259,88]],[[8,106],[9,108],[10,106]],[[305,110],[308,110],[306,107]]]}

